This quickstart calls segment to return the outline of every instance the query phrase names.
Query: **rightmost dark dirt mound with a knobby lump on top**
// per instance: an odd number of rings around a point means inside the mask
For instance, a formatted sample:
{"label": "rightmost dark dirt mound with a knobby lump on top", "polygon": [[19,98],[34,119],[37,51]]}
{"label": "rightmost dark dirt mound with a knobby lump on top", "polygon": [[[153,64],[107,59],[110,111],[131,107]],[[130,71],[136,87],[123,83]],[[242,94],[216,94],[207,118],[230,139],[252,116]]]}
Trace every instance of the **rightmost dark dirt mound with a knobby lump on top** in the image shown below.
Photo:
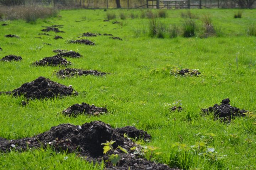
{"label": "rightmost dark dirt mound with a knobby lump on top", "polygon": [[229,98],[225,98],[222,100],[222,104],[214,104],[213,107],[209,107],[206,109],[202,109],[202,112],[205,114],[214,113],[215,120],[223,119],[224,121],[231,121],[231,119],[235,119],[235,117],[243,117],[245,116],[244,109],[239,109],[236,107],[232,107],[229,104]]}

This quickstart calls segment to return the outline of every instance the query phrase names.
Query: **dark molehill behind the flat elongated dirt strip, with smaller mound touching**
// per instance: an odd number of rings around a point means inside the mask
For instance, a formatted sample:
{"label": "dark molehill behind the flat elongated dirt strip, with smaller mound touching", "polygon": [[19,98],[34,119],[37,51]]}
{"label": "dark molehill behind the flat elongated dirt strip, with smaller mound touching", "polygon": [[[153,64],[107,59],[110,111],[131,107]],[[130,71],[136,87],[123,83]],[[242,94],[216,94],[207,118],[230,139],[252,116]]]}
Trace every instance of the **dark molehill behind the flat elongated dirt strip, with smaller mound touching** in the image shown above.
{"label": "dark molehill behind the flat elongated dirt strip, with smaller mound touching", "polygon": [[71,62],[67,61],[65,58],[62,58],[58,55],[52,56],[52,57],[45,57],[42,60],[32,63],[32,65],[34,66],[58,66],[58,65],[67,66],[70,64]]}

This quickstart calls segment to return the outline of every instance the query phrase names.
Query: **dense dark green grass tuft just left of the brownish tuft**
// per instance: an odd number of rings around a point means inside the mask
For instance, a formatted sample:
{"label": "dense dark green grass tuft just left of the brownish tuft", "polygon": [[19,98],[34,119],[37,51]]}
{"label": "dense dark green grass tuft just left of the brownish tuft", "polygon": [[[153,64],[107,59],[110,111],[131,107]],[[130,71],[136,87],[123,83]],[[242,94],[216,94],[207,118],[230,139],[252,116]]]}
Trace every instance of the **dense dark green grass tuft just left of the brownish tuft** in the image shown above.
{"label": "dense dark green grass tuft just left of the brownish tuft", "polygon": [[193,19],[186,19],[182,23],[182,29],[184,37],[193,37],[196,35],[196,23]]}

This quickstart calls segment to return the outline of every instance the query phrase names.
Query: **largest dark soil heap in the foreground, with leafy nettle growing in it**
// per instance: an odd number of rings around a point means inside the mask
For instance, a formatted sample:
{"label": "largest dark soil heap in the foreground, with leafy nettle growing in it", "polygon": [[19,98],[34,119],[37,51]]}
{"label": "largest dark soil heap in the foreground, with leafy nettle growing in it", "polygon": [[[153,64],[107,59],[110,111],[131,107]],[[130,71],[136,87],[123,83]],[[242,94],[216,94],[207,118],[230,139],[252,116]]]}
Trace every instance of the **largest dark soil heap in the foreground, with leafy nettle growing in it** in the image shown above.
{"label": "largest dark soil heap in the foreground, with leafy nettle growing in it", "polygon": [[129,167],[131,170],[175,170],[164,164],[156,164],[142,158],[138,159],[137,155],[133,154],[130,148],[140,148],[140,146],[130,138],[124,137],[123,132],[134,136],[134,138],[144,137],[144,140],[147,139],[146,137],[150,138],[147,132],[130,128],[130,126],[128,128],[113,129],[110,125],[101,121],[92,121],[81,126],[60,124],[53,126],[49,131],[42,134],[18,140],[0,138],[0,151],[10,152],[11,149],[21,152],[27,151],[30,148],[46,148],[50,146],[56,152],[75,152],[90,162],[100,163],[102,160],[108,160],[108,155],[113,153],[109,151],[109,153],[103,155],[103,145],[101,143],[113,140],[115,141],[113,148],[121,146],[128,153],[122,153],[117,149],[115,153],[119,154],[121,159],[116,166],[113,166],[109,161],[105,162],[105,168],[108,170],[127,170]]}

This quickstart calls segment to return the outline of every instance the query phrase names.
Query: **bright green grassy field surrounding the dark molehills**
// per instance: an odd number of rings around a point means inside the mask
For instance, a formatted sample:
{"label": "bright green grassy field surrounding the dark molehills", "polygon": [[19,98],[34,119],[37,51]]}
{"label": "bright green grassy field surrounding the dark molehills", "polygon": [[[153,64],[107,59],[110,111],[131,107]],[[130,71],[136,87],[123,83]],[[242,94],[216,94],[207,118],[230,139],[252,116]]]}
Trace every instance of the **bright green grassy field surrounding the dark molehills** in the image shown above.
{"label": "bright green grassy field surrounding the dark molehills", "polygon": [[[256,37],[247,30],[256,23],[256,10],[191,10],[197,24],[193,38],[164,39],[148,35],[151,19],[140,18],[146,10],[68,10],[55,18],[39,19],[36,24],[23,20],[0,22],[0,58],[21,56],[21,62],[0,62],[0,91],[11,91],[23,83],[44,76],[64,85],[72,85],[78,96],[51,100],[33,100],[25,107],[22,97],[0,95],[0,137],[31,137],[62,123],[81,125],[101,120],[112,127],[135,126],[152,135],[146,145],[158,147],[156,162],[180,169],[256,169],[256,119],[237,118],[231,123],[215,121],[201,115],[201,108],[230,99],[231,106],[255,112],[256,106]],[[116,19],[103,22],[109,13]],[[120,19],[123,13],[127,18]],[[131,13],[138,18],[130,18]],[[153,13],[158,11],[153,10]],[[166,26],[182,28],[181,13],[169,10],[166,18],[156,18]],[[211,17],[219,36],[200,38],[201,17]],[[79,22],[77,22],[79,21]],[[113,21],[120,22],[112,24]],[[64,25],[65,33],[41,35],[42,26]],[[107,33],[89,37],[95,46],[70,44],[85,32]],[[6,38],[16,34],[20,39]],[[51,46],[43,44],[49,43]],[[32,62],[55,55],[52,50],[79,52],[82,58],[67,58],[70,68],[96,69],[107,72],[103,77],[82,76],[59,79],[59,67],[34,67]],[[170,68],[199,69],[198,77],[175,77]],[[106,107],[100,117],[65,117],[61,113],[75,103],[86,102]],[[170,112],[175,103],[181,112]],[[214,148],[214,152],[209,149]],[[212,150],[211,150],[212,151]],[[68,157],[68,159],[64,159]],[[32,149],[18,153],[0,153],[0,169],[102,169],[102,165],[85,162],[75,154],[55,153],[51,149]]]}

